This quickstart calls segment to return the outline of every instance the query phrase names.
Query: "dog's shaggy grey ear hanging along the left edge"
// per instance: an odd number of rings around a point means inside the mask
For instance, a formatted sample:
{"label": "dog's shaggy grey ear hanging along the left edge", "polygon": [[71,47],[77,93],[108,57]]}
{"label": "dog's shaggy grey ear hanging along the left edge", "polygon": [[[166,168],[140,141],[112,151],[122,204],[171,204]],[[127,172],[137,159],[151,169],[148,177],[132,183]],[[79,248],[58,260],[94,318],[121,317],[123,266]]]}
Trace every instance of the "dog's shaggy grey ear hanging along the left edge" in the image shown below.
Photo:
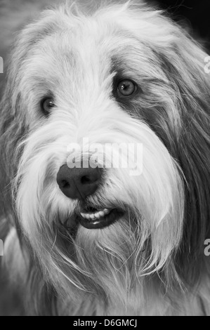
{"label": "dog's shaggy grey ear hanging along the left edge", "polygon": [[4,216],[12,209],[11,181],[18,165],[17,145],[27,130],[24,103],[20,88],[21,60],[27,55],[27,44],[18,38],[6,63],[6,79],[1,86],[0,100],[0,200]]}

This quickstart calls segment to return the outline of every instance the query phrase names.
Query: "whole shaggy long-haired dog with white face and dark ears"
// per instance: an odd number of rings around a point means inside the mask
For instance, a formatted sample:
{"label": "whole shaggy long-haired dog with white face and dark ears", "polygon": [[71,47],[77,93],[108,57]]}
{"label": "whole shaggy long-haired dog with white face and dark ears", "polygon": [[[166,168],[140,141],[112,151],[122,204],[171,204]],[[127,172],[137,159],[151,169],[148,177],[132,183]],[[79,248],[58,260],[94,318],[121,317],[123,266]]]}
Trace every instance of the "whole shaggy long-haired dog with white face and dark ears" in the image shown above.
{"label": "whole shaggy long-haired dog with white face and dark ears", "polygon": [[[27,315],[210,315],[206,56],[143,1],[66,1],[22,29],[0,185],[4,268]],[[105,166],[106,145],[142,157]]]}

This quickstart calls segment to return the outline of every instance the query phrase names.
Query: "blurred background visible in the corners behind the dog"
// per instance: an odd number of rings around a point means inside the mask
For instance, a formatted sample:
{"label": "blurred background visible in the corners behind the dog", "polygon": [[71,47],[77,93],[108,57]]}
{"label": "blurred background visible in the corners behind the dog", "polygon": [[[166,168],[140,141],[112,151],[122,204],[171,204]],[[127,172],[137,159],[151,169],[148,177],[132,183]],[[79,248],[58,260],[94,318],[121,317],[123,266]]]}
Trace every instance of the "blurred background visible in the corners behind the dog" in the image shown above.
{"label": "blurred background visible in the corners behind the dog", "polygon": [[[98,1],[103,0],[76,1],[87,4],[91,1],[98,3]],[[15,35],[25,25],[25,22],[29,22],[45,6],[59,2],[59,0],[0,0],[0,56],[4,59],[4,62],[6,62]],[[169,11],[173,20],[181,21],[182,24],[188,26],[192,36],[202,40],[210,53],[209,0],[147,0],[147,3],[158,4],[160,8]],[[1,86],[4,85],[4,79],[5,72],[0,74],[0,91]],[[1,228],[0,239],[4,240],[4,233],[1,231]],[[0,262],[3,258],[4,256],[0,256]],[[22,306],[18,298],[18,292],[11,288],[11,284],[8,285],[8,276],[10,277],[12,274],[5,275],[0,268],[0,316],[22,315]]]}

